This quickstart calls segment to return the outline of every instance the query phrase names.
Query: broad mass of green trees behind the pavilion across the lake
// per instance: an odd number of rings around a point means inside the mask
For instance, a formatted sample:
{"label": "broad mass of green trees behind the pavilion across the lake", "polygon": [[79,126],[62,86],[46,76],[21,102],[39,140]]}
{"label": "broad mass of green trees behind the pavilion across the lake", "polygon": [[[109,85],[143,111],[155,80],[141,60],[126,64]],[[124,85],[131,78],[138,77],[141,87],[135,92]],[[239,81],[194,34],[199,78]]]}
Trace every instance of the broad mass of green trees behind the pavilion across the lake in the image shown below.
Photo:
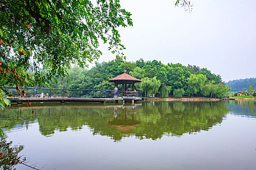
{"label": "broad mass of green trees behind the pavilion across the lake", "polygon": [[[141,80],[137,83],[136,90],[141,91],[145,97],[182,97],[200,96],[222,98],[228,91],[220,75],[212,73],[207,68],[197,66],[183,66],[179,63],[164,65],[161,61],[136,62],[112,60],[97,63],[96,66],[86,70],[74,67],[68,70],[69,78],[58,80],[55,88],[71,89],[109,89],[114,84],[108,82],[127,70],[126,72]],[[128,88],[132,86],[128,85]]]}

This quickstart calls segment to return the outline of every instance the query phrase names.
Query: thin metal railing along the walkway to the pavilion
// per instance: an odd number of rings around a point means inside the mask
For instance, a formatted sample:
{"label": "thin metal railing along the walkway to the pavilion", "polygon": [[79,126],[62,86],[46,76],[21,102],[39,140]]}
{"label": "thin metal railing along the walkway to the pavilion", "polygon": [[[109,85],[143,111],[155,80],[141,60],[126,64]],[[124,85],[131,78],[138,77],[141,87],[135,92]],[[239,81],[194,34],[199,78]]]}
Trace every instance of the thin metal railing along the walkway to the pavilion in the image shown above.
{"label": "thin metal railing along the walkway to the pavilion", "polygon": [[[20,96],[16,87],[5,87],[10,92],[9,97]],[[113,90],[90,90],[90,89],[51,89],[51,88],[22,88],[28,98],[114,98]],[[118,97],[141,97],[141,92],[118,91]]]}

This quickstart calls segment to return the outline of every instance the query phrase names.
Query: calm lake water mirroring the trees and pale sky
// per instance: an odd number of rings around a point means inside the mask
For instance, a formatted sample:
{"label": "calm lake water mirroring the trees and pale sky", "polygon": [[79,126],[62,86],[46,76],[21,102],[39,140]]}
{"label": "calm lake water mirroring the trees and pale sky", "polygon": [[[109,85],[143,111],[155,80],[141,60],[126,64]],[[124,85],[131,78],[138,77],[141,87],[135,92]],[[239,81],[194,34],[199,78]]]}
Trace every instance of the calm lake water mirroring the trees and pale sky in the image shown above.
{"label": "calm lake water mirroring the trees and pale sky", "polygon": [[43,170],[256,170],[255,101],[33,107],[0,125]]}

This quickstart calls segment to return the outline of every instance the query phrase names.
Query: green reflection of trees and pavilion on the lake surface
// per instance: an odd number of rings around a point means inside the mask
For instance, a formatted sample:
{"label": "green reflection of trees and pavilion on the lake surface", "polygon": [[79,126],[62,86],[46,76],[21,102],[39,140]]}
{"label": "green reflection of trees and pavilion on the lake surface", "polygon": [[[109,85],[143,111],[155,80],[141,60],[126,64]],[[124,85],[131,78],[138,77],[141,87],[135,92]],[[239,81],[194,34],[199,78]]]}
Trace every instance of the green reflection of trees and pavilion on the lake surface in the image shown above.
{"label": "green reflection of trees and pavilion on the lake surface", "polygon": [[1,116],[6,130],[38,122],[43,136],[56,131],[73,131],[88,126],[93,135],[156,140],[162,136],[208,131],[221,123],[229,109],[225,102],[142,102],[135,105],[51,104],[34,106],[37,115],[26,107],[11,107]]}

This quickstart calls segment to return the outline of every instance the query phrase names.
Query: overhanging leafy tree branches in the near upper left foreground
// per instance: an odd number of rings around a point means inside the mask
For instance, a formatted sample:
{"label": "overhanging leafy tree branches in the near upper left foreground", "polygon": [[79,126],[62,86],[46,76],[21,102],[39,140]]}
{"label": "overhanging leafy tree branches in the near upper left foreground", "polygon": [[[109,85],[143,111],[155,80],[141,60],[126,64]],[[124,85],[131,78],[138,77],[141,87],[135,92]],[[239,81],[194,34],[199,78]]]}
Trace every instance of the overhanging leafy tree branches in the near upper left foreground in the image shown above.
{"label": "overhanging leafy tree branches in the near upper left foreground", "polygon": [[119,59],[117,29],[133,25],[119,0],[4,0],[0,16],[0,86],[49,86],[71,65],[98,59],[100,39]]}

